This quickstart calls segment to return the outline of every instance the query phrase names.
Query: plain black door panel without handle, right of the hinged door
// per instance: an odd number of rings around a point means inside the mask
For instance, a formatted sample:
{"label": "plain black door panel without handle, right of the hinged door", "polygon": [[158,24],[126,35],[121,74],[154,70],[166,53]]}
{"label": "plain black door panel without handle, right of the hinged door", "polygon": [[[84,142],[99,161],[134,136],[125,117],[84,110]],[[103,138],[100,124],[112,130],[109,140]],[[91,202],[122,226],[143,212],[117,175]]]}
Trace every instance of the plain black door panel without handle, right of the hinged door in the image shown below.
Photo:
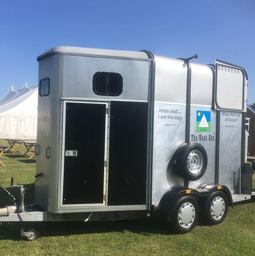
{"label": "plain black door panel without handle, right of the hinged door", "polygon": [[145,205],[147,102],[111,102],[108,206]]}

